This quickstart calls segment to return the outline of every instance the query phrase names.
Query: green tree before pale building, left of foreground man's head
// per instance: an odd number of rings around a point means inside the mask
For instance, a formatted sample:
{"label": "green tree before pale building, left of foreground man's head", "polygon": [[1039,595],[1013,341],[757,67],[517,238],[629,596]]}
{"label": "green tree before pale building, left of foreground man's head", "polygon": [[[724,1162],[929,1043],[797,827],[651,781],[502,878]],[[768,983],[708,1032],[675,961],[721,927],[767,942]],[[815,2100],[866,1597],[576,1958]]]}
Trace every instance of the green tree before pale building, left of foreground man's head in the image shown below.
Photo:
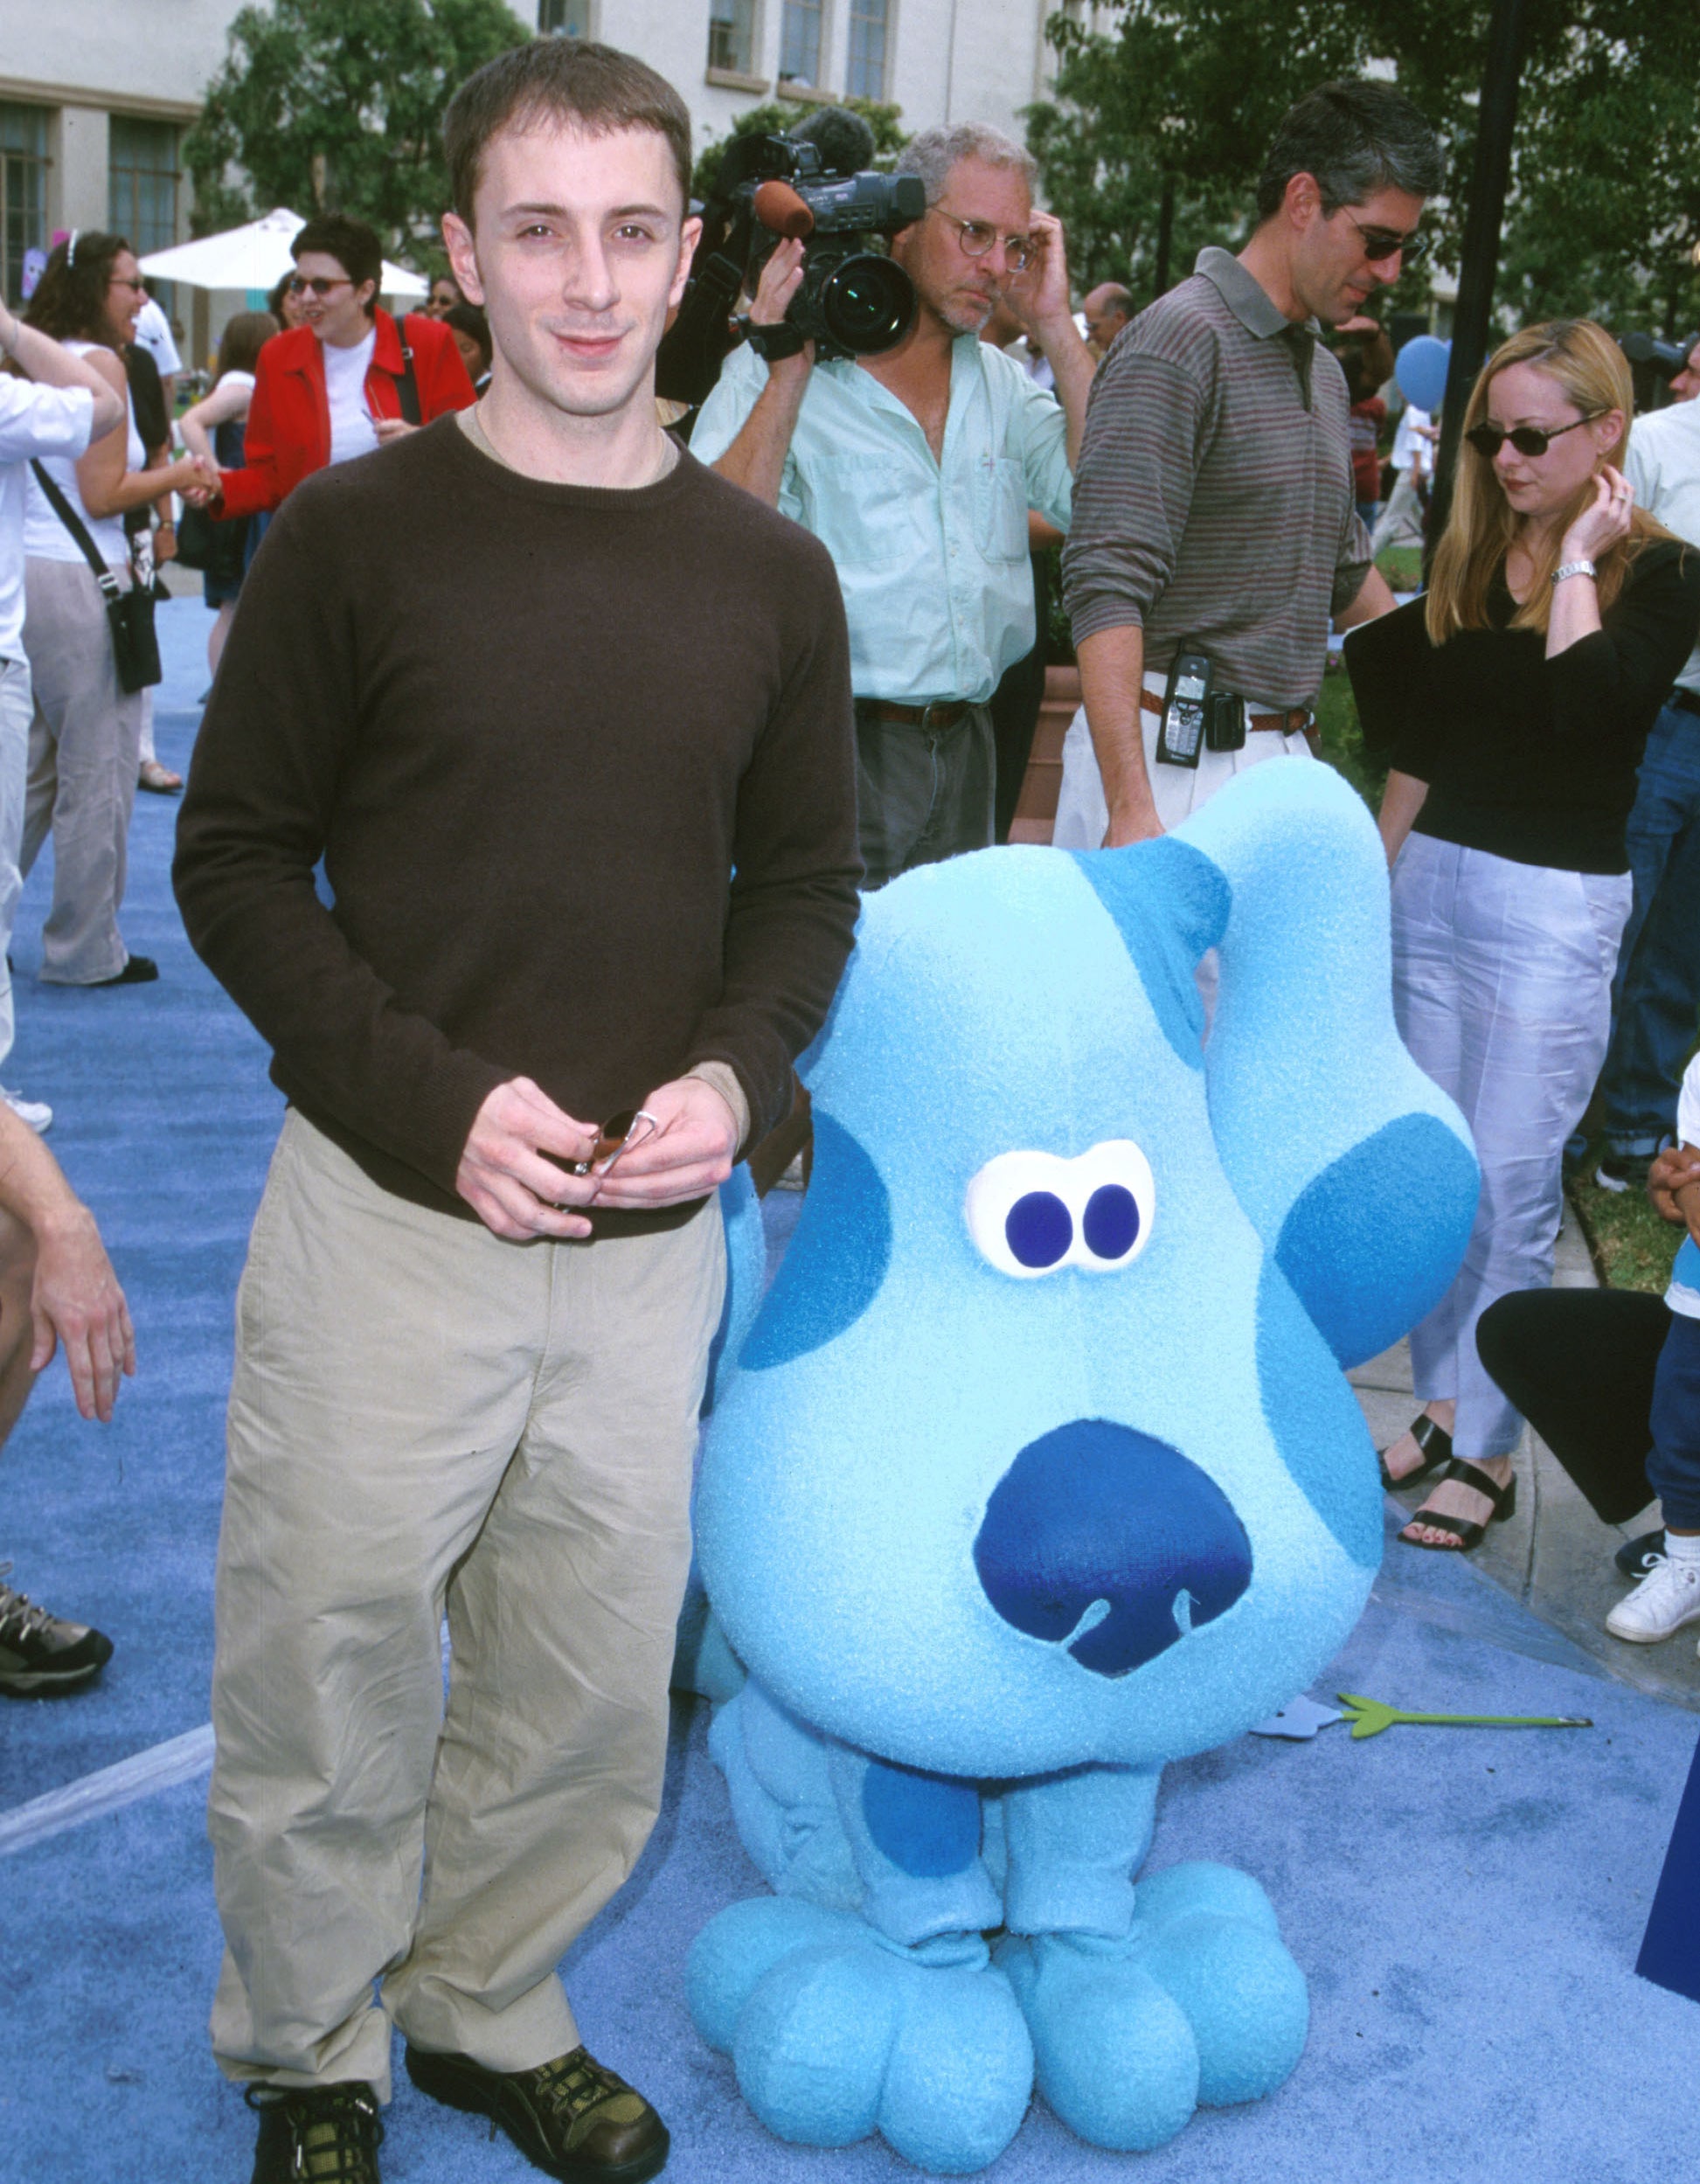
{"label": "green tree before pale building, left of foreground man's head", "polygon": [[[444,107],[522,46],[505,0],[273,0],[229,26],[225,66],[184,138],[197,234],[271,205],[369,221],[402,262],[441,258]],[[232,183],[232,168],[245,179]]]}

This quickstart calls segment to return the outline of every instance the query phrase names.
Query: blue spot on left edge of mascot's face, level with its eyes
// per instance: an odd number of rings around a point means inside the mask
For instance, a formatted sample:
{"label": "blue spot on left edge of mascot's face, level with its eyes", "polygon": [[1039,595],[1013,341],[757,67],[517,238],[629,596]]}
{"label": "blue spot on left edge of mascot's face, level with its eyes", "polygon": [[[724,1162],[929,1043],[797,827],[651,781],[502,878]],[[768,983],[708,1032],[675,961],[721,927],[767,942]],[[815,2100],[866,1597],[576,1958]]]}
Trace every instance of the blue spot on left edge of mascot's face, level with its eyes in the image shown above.
{"label": "blue spot on left edge of mascot's face, level with its eyes", "polygon": [[815,1168],[798,1234],[774,1275],[739,1365],[789,1365],[843,1334],[878,1295],[892,1262],[892,1201],[878,1168],[815,1107]]}

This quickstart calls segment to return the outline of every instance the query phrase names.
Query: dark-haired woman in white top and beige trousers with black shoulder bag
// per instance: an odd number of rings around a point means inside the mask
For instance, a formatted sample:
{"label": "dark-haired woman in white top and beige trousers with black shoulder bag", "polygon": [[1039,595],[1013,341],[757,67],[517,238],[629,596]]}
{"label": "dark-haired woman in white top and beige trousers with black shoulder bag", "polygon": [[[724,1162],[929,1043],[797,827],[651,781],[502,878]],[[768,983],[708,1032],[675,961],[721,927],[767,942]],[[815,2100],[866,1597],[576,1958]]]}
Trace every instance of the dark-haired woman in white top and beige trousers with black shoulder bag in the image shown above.
{"label": "dark-haired woman in white top and beige trousers with black shoulder bag", "polygon": [[135,585],[125,515],[162,494],[205,489],[194,459],[146,467],[118,352],[144,288],[122,236],[76,232],[59,242],[26,323],[52,334],[129,404],[129,428],[76,463],[31,465],[24,513],[24,651],[35,684],[22,869],[52,828],[52,911],[42,933],[50,985],[140,985],[157,978],[118,933],[129,815],[142,734],[142,690],[160,679],[151,583]]}

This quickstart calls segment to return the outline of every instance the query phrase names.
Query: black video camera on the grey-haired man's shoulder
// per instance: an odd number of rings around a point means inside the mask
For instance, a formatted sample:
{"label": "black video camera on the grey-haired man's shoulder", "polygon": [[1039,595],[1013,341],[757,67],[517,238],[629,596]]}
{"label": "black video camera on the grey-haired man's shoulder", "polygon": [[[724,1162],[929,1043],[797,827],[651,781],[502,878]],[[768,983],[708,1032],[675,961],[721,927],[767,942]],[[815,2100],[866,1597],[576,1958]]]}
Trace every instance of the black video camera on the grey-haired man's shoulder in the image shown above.
{"label": "black video camera on the grey-haired man's shoulder", "polygon": [[[902,266],[867,249],[926,212],[920,175],[852,170],[872,159],[861,116],[824,107],[795,135],[747,135],[725,146],[701,210],[697,262],[656,356],[656,393],[706,402],[741,339],[769,363],[806,341],[817,358],[878,356],[916,323],[916,288]],[[782,325],[732,321],[780,236],[804,242],[802,286]]]}

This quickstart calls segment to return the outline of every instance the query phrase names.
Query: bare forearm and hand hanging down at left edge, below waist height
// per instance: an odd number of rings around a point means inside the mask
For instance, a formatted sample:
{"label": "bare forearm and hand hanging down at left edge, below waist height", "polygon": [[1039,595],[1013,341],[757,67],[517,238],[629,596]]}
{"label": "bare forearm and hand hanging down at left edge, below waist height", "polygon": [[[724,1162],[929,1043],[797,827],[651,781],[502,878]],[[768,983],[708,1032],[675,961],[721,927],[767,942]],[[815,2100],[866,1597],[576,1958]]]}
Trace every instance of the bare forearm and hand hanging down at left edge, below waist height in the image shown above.
{"label": "bare forearm and hand hanging down at left edge, below waist height", "polygon": [[0,1105],[0,1206],[35,1238],[31,1372],[57,1343],[83,1417],[111,1417],[120,1374],[135,1372],[129,1306],[101,1243],[94,1214],[26,1123]]}

